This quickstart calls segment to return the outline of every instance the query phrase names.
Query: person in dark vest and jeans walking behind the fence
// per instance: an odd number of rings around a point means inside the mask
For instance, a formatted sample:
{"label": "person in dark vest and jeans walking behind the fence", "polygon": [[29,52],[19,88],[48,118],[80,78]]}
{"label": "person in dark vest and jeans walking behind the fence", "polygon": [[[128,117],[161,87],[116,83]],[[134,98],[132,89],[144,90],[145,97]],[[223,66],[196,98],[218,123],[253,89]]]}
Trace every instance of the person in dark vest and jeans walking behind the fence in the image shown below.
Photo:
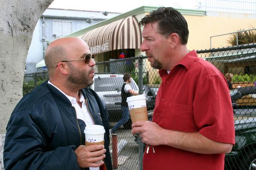
{"label": "person in dark vest and jeans walking behind the fence", "polygon": [[126,102],[127,97],[130,97],[132,95],[138,95],[138,91],[134,91],[131,88],[131,74],[126,73],[123,76],[124,83],[121,88],[121,96],[122,96],[122,102],[121,102],[121,109],[122,109],[122,119],[119,120],[119,122],[116,123],[116,125],[111,129],[111,133],[116,133],[116,130],[121,126],[124,125],[126,122],[128,122],[130,118],[129,108],[128,104]]}

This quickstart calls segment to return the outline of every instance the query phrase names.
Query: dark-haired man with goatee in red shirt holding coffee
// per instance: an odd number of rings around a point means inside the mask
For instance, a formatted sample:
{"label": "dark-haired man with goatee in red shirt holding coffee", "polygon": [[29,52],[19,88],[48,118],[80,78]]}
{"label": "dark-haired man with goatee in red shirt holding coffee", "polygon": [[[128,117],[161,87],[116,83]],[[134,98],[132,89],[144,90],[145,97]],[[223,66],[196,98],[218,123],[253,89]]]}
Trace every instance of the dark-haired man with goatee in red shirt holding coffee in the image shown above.
{"label": "dark-haired man with goatee in red shirt holding coffee", "polygon": [[147,145],[143,170],[223,170],[235,144],[227,81],[209,62],[188,51],[185,18],[160,7],[141,21],[145,51],[162,79],[152,122],[135,122]]}

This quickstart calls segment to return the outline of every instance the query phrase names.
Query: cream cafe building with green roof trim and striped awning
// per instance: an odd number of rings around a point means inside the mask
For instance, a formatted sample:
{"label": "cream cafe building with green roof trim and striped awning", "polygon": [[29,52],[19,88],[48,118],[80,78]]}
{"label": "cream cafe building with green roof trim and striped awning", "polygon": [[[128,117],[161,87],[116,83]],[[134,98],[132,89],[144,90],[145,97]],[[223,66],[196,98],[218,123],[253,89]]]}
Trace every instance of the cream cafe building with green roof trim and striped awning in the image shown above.
{"label": "cream cafe building with green roof trim and striped awning", "polygon": [[[142,28],[139,21],[157,7],[142,6],[120,14],[65,37],[79,37],[90,47],[96,62],[145,55],[140,52]],[[213,35],[234,32],[239,29],[256,27],[255,14],[235,14],[225,12],[207,12],[189,9],[177,9],[187,20],[189,26],[189,50],[210,48]],[[212,40],[212,48],[228,46],[226,37]]]}

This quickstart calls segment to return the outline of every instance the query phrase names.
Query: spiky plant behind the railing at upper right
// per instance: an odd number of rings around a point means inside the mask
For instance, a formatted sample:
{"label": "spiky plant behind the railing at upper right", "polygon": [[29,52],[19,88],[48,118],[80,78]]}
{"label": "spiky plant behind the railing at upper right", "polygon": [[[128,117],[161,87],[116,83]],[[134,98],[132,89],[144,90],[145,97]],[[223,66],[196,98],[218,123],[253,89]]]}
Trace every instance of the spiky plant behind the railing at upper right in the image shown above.
{"label": "spiky plant behind the railing at upper right", "polygon": [[237,45],[236,34],[238,35],[238,45],[256,42],[256,30],[244,31],[244,29],[243,30],[240,29],[238,31],[243,31],[243,32],[231,34],[231,36],[227,40],[229,44]]}

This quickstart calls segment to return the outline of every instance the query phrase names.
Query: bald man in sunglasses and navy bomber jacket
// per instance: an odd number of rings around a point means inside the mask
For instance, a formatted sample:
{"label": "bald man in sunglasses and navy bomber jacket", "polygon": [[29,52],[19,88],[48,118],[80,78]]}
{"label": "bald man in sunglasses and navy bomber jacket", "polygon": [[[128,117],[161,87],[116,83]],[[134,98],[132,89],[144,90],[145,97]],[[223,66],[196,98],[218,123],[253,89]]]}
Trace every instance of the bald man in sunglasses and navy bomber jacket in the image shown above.
{"label": "bald man in sunglasses and navy bomber jacket", "polygon": [[[6,127],[6,170],[112,170],[108,112],[87,88],[94,77],[91,57],[79,38],[57,39],[48,46],[49,81],[23,96]],[[104,126],[105,145],[85,147],[87,125]]]}

